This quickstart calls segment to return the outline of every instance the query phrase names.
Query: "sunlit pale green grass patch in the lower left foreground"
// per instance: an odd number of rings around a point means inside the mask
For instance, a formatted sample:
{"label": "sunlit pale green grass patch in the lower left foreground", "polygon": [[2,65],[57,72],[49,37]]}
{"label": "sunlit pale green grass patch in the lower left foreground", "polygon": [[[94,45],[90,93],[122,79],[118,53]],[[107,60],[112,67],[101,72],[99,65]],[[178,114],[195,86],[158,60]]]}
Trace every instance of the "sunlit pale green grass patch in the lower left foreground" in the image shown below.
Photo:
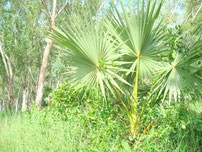
{"label": "sunlit pale green grass patch in the lower left foreground", "polygon": [[114,136],[109,127],[34,115],[1,118],[1,152],[118,151],[120,136]]}

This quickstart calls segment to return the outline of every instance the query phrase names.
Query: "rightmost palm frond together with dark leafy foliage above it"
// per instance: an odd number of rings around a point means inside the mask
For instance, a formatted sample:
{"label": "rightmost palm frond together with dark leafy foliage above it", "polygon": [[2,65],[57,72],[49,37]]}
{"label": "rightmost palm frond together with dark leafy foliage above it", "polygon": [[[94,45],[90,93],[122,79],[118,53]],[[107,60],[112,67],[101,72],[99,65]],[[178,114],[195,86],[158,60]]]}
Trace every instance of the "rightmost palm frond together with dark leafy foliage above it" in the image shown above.
{"label": "rightmost palm frond together with dark leafy foliage above it", "polygon": [[[200,27],[200,26],[199,26]],[[169,29],[167,35],[169,57],[163,58],[160,67],[161,89],[164,90],[164,98],[169,94],[169,102],[174,98],[179,99],[182,89],[201,90],[201,29],[184,33],[181,26]],[[168,61],[168,63],[164,62]],[[199,64],[198,64],[199,63]],[[200,93],[196,96],[201,96]]]}

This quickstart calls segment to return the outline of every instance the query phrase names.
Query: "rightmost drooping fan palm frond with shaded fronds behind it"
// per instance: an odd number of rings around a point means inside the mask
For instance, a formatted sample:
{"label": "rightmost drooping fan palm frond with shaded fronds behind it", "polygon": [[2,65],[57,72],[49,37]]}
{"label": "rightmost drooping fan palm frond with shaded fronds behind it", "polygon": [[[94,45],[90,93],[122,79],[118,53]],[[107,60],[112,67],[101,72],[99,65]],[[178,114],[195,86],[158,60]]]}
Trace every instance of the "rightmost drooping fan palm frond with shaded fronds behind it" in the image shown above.
{"label": "rightmost drooping fan palm frond with shaded fronds behind it", "polygon": [[[198,40],[194,40],[199,35]],[[181,89],[188,87],[190,89],[198,88],[201,90],[201,28],[197,27],[192,37],[183,37],[183,44],[185,45],[184,52],[177,52],[171,64],[162,63],[158,74],[160,79],[158,86],[160,87],[159,95],[164,91],[165,99],[169,94],[169,103],[172,98],[177,101],[180,97]],[[199,64],[198,64],[199,63]]]}

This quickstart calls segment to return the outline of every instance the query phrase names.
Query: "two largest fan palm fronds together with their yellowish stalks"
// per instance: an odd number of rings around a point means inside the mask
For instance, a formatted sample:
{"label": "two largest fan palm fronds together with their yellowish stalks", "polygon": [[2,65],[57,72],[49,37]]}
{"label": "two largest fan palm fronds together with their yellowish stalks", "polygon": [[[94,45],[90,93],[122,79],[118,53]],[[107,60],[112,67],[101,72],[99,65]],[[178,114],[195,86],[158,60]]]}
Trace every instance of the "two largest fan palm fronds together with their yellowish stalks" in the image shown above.
{"label": "two largest fan palm fronds together with their yellowish stalks", "polygon": [[[161,39],[163,31],[160,23],[156,26],[155,21],[159,15],[162,2],[151,3],[145,7],[145,1],[137,5],[131,5],[129,1],[128,12],[123,1],[121,8],[123,14],[115,8],[109,13],[107,22],[103,26],[103,21],[93,19],[88,14],[72,19],[72,25],[66,25],[66,29],[54,28],[54,34],[50,33],[50,38],[56,43],[63,45],[66,54],[70,57],[72,65],[69,72],[71,83],[83,86],[98,86],[105,94],[105,86],[116,95],[122,102],[129,119],[131,132],[135,133],[137,123],[137,92],[139,77],[150,76],[156,65],[156,57],[162,48]],[[137,7],[136,7],[137,6]],[[129,70],[120,67],[129,64],[128,61],[117,61],[122,56],[118,51],[123,45],[123,49],[128,55],[134,58]],[[117,89],[122,91],[117,80],[130,85],[119,72],[135,71],[134,99],[128,105],[121,99]]]}

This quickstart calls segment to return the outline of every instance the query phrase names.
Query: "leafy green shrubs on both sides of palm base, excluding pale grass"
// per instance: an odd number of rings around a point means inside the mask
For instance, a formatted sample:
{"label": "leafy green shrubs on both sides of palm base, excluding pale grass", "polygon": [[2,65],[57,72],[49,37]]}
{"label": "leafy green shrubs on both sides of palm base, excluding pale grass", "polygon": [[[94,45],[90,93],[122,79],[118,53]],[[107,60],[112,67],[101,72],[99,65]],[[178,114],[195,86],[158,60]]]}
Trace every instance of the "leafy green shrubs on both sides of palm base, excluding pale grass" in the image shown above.
{"label": "leafy green shrubs on both sides of palm base, excluding pale grass", "polygon": [[[140,134],[134,143],[127,135],[127,126],[114,115],[120,115],[116,101],[111,97],[111,101],[105,103],[100,91],[96,89],[84,92],[75,91],[69,85],[62,84],[51,94],[50,110],[54,114],[59,113],[58,116],[63,120],[69,121],[73,115],[79,122],[90,124],[92,128],[85,128],[86,130],[105,128],[109,131],[106,138],[109,136],[113,142],[114,137],[118,136],[117,146],[124,150],[200,151],[201,103],[182,102],[167,105],[159,101],[156,104],[151,102],[145,108],[141,124],[147,125],[152,122],[152,127],[146,134]],[[142,130],[143,127],[145,126],[141,126]],[[94,136],[100,139],[100,136]]]}

